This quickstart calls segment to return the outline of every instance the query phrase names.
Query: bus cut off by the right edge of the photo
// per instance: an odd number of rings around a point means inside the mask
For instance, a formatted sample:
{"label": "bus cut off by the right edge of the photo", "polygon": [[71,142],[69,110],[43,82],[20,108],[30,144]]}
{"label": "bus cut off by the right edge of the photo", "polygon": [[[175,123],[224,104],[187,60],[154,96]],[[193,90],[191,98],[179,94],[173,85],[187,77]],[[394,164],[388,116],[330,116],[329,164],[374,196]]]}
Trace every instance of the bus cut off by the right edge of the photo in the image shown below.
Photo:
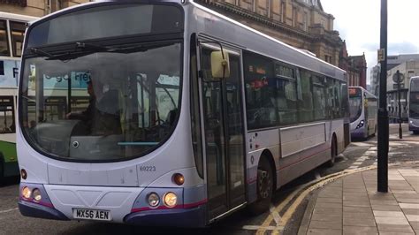
{"label": "bus cut off by the right edge of the photo", "polygon": [[408,93],[408,130],[419,134],[419,76],[410,78]]}

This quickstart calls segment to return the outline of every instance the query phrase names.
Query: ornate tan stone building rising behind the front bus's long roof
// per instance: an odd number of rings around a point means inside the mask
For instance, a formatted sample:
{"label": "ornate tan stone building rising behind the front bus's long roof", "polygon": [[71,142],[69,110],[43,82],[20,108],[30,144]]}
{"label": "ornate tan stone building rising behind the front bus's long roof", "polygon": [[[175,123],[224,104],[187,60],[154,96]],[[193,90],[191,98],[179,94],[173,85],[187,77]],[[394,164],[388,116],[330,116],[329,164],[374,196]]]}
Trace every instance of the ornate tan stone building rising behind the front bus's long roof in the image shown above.
{"label": "ornate tan stone building rising behind the front bus's long roof", "polygon": [[339,65],[342,40],[320,0],[195,0],[264,34]]}

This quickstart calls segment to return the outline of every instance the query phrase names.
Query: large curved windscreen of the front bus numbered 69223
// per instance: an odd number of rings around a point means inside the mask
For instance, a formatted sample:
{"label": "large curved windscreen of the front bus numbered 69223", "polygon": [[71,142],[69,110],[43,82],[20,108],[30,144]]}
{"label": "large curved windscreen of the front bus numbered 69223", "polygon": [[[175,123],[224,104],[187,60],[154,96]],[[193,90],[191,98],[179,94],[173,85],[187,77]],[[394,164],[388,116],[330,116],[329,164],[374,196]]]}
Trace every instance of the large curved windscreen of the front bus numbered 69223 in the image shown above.
{"label": "large curved windscreen of the front bus numbered 69223", "polygon": [[24,59],[20,118],[35,148],[60,159],[113,161],[167,140],[179,114],[180,42],[119,48]]}

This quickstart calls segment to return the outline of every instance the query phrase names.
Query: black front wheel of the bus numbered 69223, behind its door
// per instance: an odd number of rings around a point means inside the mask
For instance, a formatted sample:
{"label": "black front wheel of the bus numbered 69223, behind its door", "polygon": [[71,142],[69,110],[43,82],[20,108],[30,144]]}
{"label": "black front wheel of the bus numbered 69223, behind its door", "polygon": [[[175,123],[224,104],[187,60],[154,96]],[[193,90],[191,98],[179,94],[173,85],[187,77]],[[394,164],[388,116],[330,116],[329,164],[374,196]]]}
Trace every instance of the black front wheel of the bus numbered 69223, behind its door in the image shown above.
{"label": "black front wheel of the bus numbered 69223, behind its door", "polygon": [[249,212],[253,215],[259,215],[269,210],[272,198],[273,172],[268,159],[263,155],[257,166],[256,191],[257,200],[248,207]]}

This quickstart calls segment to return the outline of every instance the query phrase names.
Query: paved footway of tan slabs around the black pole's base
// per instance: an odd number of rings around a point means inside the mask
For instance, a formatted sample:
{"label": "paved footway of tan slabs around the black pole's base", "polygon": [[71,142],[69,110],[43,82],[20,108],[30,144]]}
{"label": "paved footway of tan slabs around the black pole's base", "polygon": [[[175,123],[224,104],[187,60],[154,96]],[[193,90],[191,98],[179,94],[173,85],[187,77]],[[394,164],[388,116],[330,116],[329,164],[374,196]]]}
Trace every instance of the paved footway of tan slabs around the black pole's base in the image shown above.
{"label": "paved footway of tan slabs around the black pole's base", "polygon": [[320,188],[298,234],[419,234],[419,163],[389,167],[388,193],[377,192],[377,169]]}

